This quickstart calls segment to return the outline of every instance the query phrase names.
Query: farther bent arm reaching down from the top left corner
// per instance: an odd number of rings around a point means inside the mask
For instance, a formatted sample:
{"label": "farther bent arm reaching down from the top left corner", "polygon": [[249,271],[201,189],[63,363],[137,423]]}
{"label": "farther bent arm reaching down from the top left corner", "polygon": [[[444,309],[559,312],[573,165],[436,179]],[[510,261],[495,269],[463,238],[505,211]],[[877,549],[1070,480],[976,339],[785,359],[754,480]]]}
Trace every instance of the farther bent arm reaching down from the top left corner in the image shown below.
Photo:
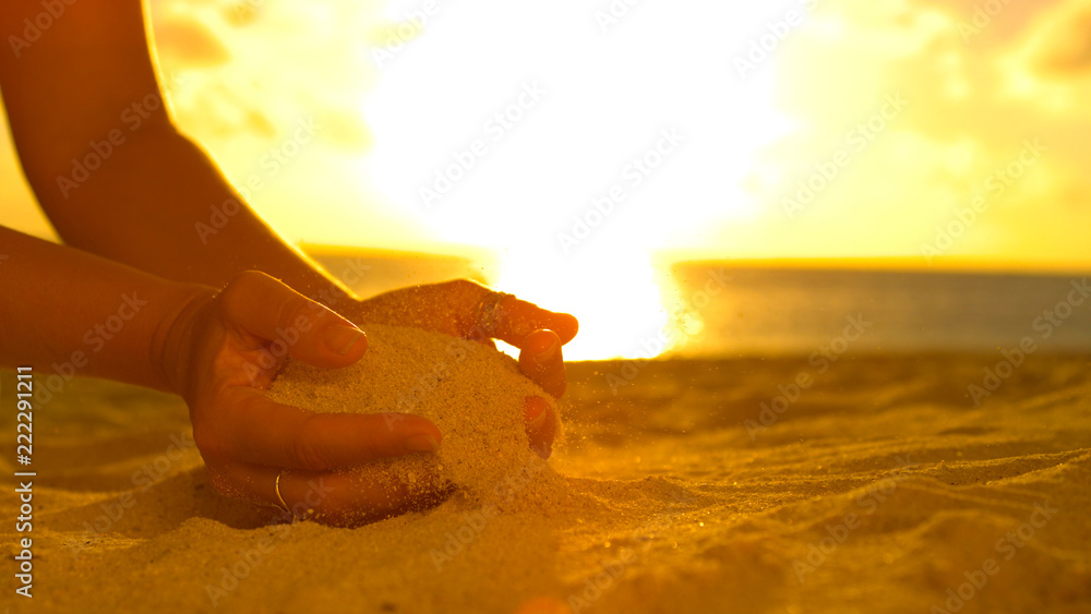
{"label": "farther bent arm reaching down from the top left corner", "polygon": [[[4,0],[0,31],[21,32],[40,11],[38,0]],[[343,300],[345,290],[266,227],[175,129],[145,24],[140,0],[77,2],[41,40],[0,53],[20,160],[60,236],[168,279],[221,287],[257,268],[324,302]],[[235,202],[237,213],[213,217],[213,207],[233,210]]]}

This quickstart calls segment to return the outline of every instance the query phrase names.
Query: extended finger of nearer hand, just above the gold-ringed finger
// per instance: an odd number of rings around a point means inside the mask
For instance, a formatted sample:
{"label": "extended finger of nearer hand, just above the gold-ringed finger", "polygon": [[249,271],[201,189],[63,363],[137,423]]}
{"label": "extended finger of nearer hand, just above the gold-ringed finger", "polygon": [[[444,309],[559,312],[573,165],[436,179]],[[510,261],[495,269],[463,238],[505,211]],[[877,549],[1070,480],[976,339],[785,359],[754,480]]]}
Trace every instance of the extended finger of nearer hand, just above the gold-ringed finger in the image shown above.
{"label": "extended finger of nearer hand, just above the gold-ringed finger", "polygon": [[442,440],[435,424],[418,416],[317,413],[249,387],[225,394],[230,411],[211,411],[194,437],[203,453],[235,461],[321,471],[434,452]]}

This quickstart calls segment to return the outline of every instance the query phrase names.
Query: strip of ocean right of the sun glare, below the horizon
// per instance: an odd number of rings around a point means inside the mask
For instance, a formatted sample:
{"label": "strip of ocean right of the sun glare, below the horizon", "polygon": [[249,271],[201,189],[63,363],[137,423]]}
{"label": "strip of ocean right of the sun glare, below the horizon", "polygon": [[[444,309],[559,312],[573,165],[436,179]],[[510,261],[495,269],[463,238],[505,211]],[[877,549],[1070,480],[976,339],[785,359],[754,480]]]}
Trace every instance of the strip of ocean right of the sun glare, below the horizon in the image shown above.
{"label": "strip of ocean right of the sun glare, below the horizon", "polygon": [[1033,351],[1091,349],[1091,286],[1083,275],[724,263],[680,264],[672,273],[704,325],[682,356],[986,352],[1020,344]]}

